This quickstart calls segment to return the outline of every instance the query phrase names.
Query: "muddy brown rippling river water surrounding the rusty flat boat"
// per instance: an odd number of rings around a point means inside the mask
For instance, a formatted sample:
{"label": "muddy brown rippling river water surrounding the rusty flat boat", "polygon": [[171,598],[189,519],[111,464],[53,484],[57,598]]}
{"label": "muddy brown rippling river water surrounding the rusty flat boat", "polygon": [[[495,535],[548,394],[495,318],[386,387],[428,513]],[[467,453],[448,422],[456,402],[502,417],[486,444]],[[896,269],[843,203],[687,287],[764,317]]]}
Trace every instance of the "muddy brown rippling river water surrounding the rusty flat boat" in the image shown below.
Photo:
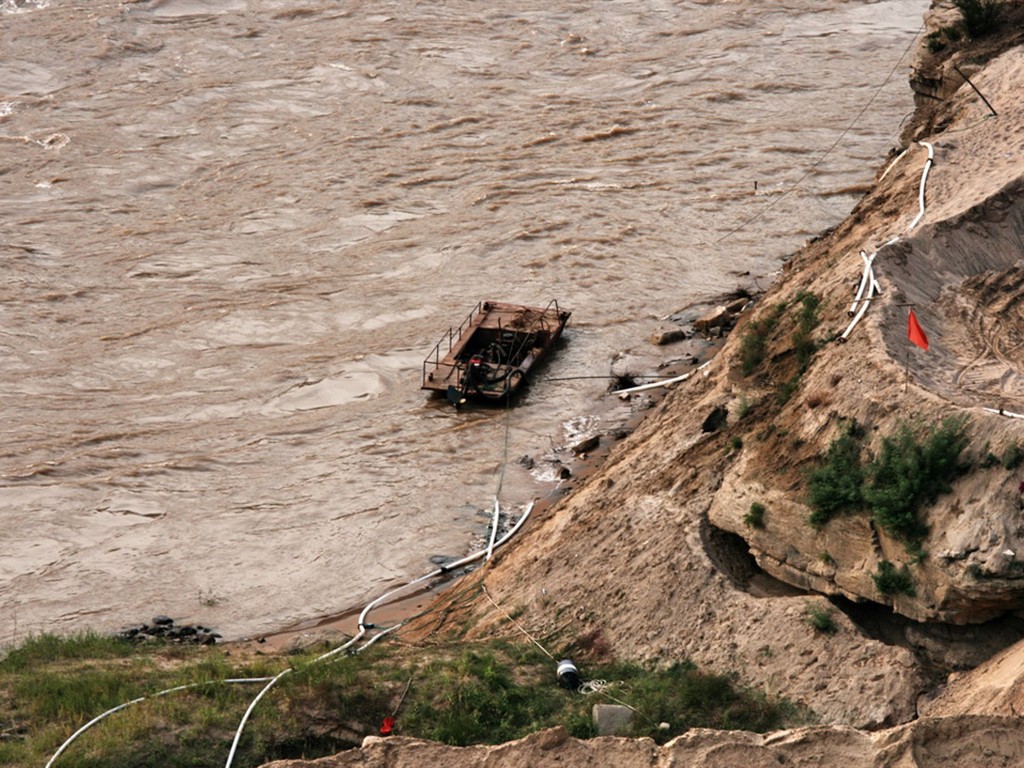
{"label": "muddy brown rippling river water surrounding the rusty flat boat", "polygon": [[[469,551],[593,427],[565,379],[850,210],[927,4],[0,0],[0,642]],[[421,361],[486,298],[572,311],[563,380],[457,413]]]}

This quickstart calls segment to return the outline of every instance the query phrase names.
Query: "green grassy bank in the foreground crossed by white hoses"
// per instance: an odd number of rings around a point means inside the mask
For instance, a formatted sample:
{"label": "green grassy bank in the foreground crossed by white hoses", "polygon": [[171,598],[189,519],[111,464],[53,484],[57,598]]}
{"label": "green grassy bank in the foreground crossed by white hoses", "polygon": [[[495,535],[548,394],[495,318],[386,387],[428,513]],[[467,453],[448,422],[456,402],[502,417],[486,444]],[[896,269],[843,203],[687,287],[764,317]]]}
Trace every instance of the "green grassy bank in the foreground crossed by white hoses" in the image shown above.
{"label": "green grassy bank in the foreground crossed by white hoses", "polygon": [[[261,699],[247,725],[234,760],[239,768],[355,746],[379,733],[392,715],[395,733],[451,744],[498,743],[555,725],[586,738],[594,735],[591,708],[602,701],[633,707],[638,715],[632,735],[659,742],[690,727],[764,731],[808,721],[784,700],[685,662],[654,669],[598,658],[580,668],[585,679],[608,682],[603,692],[568,691],[558,685],[551,659],[524,642],[375,646],[318,664],[310,664],[312,652],[243,660],[229,655],[229,646],[119,642],[36,638],[0,662],[0,764],[45,765],[83,724],[146,696],[86,731],[57,768],[221,765],[262,687],[221,681],[271,676],[289,665],[292,673]],[[154,695],[190,683],[203,684]],[[659,729],[662,722],[670,728]]]}

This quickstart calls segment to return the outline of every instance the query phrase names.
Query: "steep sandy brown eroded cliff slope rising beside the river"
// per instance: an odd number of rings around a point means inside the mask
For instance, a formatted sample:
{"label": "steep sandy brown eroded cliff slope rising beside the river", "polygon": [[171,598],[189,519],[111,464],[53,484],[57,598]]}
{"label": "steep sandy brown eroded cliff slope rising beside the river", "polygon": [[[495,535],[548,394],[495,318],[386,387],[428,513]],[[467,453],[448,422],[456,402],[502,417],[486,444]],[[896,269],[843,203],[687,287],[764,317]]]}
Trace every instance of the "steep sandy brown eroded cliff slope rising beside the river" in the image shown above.
{"label": "steep sandy brown eroded cliff slope rising beside the river", "polygon": [[[936,672],[973,667],[1021,636],[1012,612],[1024,594],[1024,470],[1005,458],[1024,445],[1024,420],[998,411],[1024,413],[1024,48],[1010,44],[984,67],[968,51],[946,70],[971,69],[997,116],[963,78],[943,86],[951,96],[929,100],[915,124],[934,135],[880,168],[714,362],[488,577],[538,630],[572,615],[566,632],[601,632],[616,652],[737,670],[825,722],[861,727],[908,721]],[[840,343],[861,251],[878,254],[881,293]],[[808,296],[816,325],[802,351]],[[909,308],[927,351],[909,344]],[[754,365],[746,337],[763,341]],[[725,425],[702,431],[715,409]],[[901,427],[920,437],[958,416],[963,466],[939,478],[949,493],[935,488],[915,511],[916,541],[866,507],[810,524],[807,473],[853,425],[867,463]],[[885,568],[908,583],[880,589]],[[816,635],[808,611],[829,609],[840,631]],[[480,631],[501,625],[487,615]]]}

